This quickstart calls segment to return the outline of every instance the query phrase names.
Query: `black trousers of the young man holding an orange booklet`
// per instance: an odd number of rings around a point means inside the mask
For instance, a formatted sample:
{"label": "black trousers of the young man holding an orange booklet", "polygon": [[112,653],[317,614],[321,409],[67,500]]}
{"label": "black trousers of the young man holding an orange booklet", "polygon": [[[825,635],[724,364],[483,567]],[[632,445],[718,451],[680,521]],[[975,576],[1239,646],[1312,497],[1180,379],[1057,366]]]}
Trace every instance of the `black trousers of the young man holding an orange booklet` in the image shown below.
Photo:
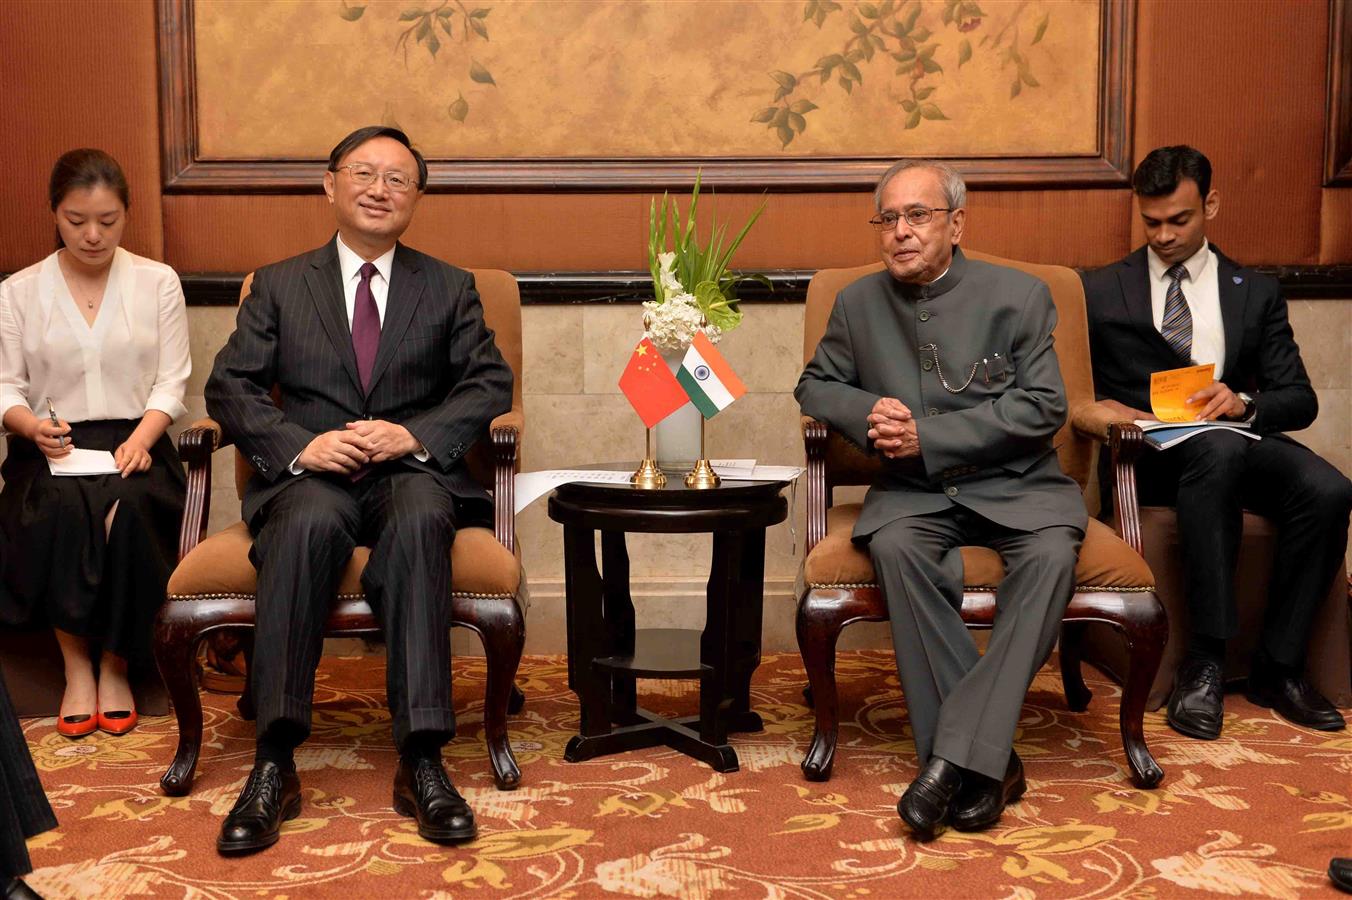
{"label": "black trousers of the young man holding an orange booklet", "polygon": [[1283,435],[1252,441],[1213,431],[1142,454],[1137,489],[1142,504],[1178,511],[1192,631],[1210,638],[1233,638],[1238,628],[1234,565],[1244,509],[1272,522],[1276,553],[1261,647],[1278,662],[1299,665],[1314,614],[1343,570],[1352,482]]}

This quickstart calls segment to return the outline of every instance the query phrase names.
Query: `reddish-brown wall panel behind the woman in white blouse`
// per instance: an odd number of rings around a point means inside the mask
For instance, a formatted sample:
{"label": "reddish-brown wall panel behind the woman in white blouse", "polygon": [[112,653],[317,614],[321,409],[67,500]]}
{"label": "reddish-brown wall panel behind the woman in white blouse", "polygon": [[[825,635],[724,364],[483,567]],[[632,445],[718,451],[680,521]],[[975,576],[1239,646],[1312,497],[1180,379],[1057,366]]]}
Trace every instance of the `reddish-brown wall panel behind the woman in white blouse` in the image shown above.
{"label": "reddish-brown wall panel behind the woman in white blouse", "polygon": [[132,207],[123,245],[161,258],[154,3],[5,0],[0,35],[0,272],[51,253],[47,177],[74,147],[100,147],[122,164]]}

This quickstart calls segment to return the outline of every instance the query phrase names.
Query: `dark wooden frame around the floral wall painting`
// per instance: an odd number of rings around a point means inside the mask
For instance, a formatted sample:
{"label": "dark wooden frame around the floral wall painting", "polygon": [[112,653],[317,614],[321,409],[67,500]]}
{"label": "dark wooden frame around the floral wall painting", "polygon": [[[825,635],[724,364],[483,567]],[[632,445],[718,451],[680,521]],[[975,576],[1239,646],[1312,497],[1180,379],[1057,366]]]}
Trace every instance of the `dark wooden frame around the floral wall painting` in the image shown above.
{"label": "dark wooden frame around the floral wall painting", "polygon": [[[197,146],[193,0],[157,0],[161,155],[165,193],[316,193],[322,159],[204,159]],[[1134,0],[1105,0],[1099,22],[1098,149],[1078,157],[953,158],[972,186],[1126,186],[1132,173]],[[653,191],[703,182],[725,191],[840,191],[872,186],[892,162],[877,157],[429,159],[429,191]]]}

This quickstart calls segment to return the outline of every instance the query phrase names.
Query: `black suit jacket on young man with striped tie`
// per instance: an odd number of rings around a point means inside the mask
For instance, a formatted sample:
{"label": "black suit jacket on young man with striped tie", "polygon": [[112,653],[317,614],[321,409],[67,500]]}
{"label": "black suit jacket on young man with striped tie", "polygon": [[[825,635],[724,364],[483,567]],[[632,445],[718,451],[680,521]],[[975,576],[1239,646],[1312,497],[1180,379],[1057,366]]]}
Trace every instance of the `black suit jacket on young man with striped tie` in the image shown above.
{"label": "black suit jacket on young man with striped tie", "polygon": [[[1253,395],[1261,434],[1298,431],[1314,422],[1318,400],[1301,362],[1286,300],[1276,278],[1245,269],[1215,245],[1225,366],[1221,380],[1232,391]],[[1151,408],[1151,373],[1184,365],[1151,318],[1146,250],[1086,272],[1084,300],[1090,322],[1094,392],[1136,409]]]}

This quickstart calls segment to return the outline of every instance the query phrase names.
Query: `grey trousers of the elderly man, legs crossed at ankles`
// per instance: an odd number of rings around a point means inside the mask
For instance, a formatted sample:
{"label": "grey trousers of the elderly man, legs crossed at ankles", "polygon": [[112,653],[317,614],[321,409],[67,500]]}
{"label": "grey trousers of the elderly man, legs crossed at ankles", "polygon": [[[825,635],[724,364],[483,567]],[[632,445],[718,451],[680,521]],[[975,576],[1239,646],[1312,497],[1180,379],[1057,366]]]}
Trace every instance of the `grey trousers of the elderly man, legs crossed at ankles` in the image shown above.
{"label": "grey trousers of the elderly man, legs crossed at ankles", "polygon": [[[1046,661],[1075,591],[1084,534],[1018,531],[956,507],[891,522],[869,542],[891,616],[896,669],[923,766],[930,755],[1002,778],[1023,695]],[[986,654],[963,624],[963,546],[1005,561]]]}

